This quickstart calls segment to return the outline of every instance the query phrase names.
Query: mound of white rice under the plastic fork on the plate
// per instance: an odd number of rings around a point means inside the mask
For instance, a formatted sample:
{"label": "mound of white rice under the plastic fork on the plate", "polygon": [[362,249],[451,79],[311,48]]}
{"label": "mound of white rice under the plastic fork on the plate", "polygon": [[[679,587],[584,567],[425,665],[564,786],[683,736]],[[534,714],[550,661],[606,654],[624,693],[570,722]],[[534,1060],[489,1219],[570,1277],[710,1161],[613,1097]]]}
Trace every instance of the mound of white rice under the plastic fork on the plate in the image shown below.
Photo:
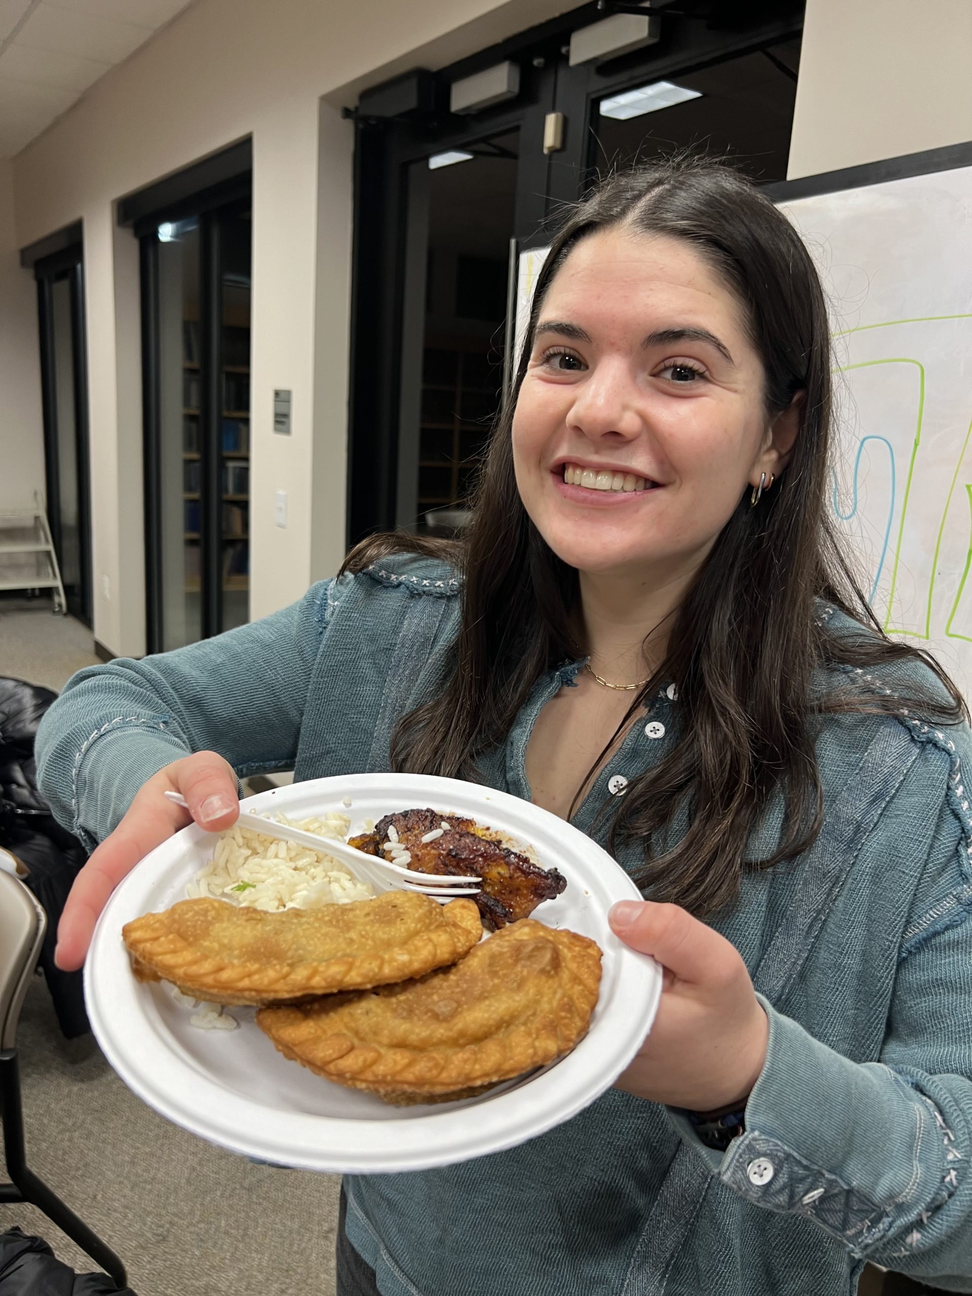
{"label": "mound of white rice under the plastic fork on the plate", "polygon": [[[272,818],[336,841],[345,841],[351,827],[349,816],[336,811],[299,822],[283,814]],[[367,883],[359,881],[345,864],[323,851],[264,837],[238,824],[219,837],[213,859],[185,888],[189,899],[213,897],[245,908],[279,912],[284,908],[347,905],[375,897]]]}

